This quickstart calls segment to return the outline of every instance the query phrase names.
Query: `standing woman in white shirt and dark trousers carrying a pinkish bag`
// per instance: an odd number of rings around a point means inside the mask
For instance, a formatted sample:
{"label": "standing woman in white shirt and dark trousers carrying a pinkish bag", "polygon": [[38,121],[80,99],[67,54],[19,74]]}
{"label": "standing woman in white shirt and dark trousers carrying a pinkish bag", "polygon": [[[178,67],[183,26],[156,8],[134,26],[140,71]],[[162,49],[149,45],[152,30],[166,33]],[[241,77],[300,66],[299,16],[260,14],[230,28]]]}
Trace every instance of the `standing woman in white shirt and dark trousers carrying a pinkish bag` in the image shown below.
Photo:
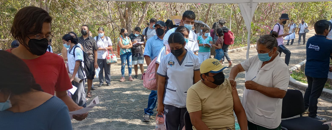
{"label": "standing woman in white shirt and dark trousers carrying a pinkish bag", "polygon": [[107,53],[113,49],[112,47],[112,41],[111,38],[108,36],[105,36],[105,30],[102,27],[98,28],[98,36],[95,37],[95,40],[97,41],[97,63],[98,67],[100,68],[98,77],[99,77],[99,85],[98,87],[103,86],[104,84],[104,71],[105,71],[105,80],[107,83],[107,86],[111,86],[111,64],[107,64],[106,62],[106,56]]}

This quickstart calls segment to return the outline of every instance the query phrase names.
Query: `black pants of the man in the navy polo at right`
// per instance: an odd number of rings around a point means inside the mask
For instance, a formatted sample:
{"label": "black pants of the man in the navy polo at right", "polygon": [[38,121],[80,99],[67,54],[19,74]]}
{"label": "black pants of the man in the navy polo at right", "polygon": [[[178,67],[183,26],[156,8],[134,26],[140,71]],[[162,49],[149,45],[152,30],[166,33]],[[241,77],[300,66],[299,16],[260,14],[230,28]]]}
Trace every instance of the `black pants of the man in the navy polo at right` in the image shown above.
{"label": "black pants of the man in the navy polo at right", "polygon": [[309,108],[309,117],[316,117],[317,103],[320,94],[322,94],[327,78],[313,78],[307,76],[308,88],[304,93],[304,108]]}

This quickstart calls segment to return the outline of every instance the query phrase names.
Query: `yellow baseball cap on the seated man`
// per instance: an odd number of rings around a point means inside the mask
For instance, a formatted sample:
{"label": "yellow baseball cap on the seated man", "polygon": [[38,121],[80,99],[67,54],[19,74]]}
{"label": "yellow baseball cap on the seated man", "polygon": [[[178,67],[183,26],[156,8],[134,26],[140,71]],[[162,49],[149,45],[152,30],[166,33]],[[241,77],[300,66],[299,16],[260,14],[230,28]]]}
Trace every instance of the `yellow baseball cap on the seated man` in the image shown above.
{"label": "yellow baseball cap on the seated man", "polygon": [[220,73],[225,68],[228,68],[226,66],[223,66],[220,64],[220,62],[217,59],[210,58],[202,62],[201,64],[201,74],[210,72],[210,73]]}

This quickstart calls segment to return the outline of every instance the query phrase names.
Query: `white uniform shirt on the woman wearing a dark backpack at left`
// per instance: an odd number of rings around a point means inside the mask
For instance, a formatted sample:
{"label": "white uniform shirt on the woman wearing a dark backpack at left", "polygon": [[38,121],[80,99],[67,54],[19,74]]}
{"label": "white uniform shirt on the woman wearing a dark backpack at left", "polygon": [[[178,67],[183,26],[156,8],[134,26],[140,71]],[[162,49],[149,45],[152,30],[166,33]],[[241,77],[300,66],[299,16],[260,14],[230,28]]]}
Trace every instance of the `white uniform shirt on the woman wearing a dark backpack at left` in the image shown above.
{"label": "white uniform shirt on the woman wearing a dark backpack at left", "polygon": [[[75,45],[75,46],[77,46],[77,45]],[[83,50],[80,47],[78,47],[78,48],[75,49],[75,52],[73,52],[75,46],[72,49],[68,49],[68,51],[67,51],[67,57],[68,57],[67,64],[68,64],[68,70],[69,70],[70,74],[74,73],[74,68],[75,68],[76,61],[82,61],[82,67],[84,67]],[[75,57],[74,57],[74,54],[75,54]],[[80,71],[80,70],[77,70],[77,73],[76,73],[76,76],[75,76],[77,78],[78,78],[78,71]],[[85,76],[85,71],[83,71],[83,73],[84,73],[84,76]],[[84,78],[86,78],[86,77],[84,77]]]}

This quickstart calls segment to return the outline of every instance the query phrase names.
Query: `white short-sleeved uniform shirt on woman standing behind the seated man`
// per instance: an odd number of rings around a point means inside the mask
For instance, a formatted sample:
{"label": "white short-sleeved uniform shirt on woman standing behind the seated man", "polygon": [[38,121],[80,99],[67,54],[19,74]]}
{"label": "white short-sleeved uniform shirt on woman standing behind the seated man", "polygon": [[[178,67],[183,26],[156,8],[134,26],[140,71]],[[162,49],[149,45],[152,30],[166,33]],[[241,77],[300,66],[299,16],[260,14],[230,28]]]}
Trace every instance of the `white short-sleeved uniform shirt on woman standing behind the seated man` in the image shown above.
{"label": "white short-sleeved uniform shirt on woman standing behind the seated man", "polygon": [[186,52],[182,62],[172,53],[161,59],[157,74],[166,77],[163,103],[177,108],[186,107],[187,90],[194,83],[194,71],[200,70],[197,55]]}

